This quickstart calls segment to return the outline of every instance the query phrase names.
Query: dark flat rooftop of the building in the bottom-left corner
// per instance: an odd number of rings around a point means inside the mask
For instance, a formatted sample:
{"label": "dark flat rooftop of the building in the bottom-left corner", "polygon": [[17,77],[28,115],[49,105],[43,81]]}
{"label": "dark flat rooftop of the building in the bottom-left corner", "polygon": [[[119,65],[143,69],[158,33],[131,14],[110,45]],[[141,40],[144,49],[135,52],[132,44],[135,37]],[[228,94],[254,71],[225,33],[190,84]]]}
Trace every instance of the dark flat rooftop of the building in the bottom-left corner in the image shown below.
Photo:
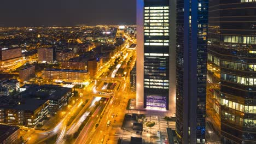
{"label": "dark flat rooftop of the building in the bottom-left corner", "polygon": [[7,139],[11,134],[17,131],[19,127],[0,124],[0,142]]}

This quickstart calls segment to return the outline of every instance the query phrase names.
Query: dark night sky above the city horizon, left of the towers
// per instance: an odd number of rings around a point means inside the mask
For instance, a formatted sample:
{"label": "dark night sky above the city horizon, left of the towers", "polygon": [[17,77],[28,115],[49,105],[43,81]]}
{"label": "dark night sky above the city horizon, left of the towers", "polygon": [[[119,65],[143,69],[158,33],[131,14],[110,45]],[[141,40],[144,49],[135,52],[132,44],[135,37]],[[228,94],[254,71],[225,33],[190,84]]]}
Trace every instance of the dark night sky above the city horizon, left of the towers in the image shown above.
{"label": "dark night sky above the city horizon, left of the towers", "polygon": [[133,25],[136,0],[1,0],[0,26]]}

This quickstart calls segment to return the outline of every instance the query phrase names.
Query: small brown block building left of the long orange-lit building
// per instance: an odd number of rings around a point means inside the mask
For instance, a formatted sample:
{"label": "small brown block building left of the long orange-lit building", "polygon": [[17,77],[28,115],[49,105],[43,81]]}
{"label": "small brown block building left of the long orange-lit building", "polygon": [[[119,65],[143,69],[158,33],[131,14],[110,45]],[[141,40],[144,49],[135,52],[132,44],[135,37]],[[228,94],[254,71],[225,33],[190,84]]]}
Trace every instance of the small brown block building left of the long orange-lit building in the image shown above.
{"label": "small brown block building left of the long orange-lit building", "polygon": [[36,76],[36,67],[29,65],[19,71],[20,82],[28,81]]}

